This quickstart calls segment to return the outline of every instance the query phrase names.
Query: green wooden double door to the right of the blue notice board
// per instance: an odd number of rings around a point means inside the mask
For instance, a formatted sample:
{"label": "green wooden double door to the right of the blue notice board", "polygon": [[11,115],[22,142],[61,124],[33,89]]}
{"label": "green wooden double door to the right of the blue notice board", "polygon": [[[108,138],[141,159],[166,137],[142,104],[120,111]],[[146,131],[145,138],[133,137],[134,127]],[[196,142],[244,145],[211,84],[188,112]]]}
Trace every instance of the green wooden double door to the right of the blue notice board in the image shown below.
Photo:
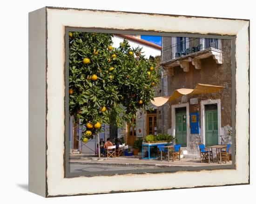
{"label": "green wooden double door to the right of the blue notice board", "polygon": [[218,112],[205,111],[205,145],[218,144]]}

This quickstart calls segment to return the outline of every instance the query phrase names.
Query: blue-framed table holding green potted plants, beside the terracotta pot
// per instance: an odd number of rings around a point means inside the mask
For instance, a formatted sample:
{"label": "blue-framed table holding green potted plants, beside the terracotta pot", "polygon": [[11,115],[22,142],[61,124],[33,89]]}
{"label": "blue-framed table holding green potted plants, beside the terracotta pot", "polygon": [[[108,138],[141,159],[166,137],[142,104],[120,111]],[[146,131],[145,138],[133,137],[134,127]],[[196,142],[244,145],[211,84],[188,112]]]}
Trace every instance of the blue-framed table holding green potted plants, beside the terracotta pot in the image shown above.
{"label": "blue-framed table holding green potted plants, beside the terracotta pot", "polygon": [[161,149],[162,146],[168,146],[168,145],[172,145],[172,142],[156,142],[156,143],[142,142],[142,159],[157,158],[158,157],[157,148]]}

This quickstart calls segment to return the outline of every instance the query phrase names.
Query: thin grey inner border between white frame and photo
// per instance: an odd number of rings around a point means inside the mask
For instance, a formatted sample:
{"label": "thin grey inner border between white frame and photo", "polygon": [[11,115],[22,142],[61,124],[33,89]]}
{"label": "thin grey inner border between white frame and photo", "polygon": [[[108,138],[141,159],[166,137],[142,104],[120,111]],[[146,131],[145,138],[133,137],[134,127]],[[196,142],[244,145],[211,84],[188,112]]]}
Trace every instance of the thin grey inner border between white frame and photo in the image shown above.
{"label": "thin grey inner border between white frame and photo", "polygon": [[[68,83],[69,83],[69,32],[101,32],[101,33],[113,33],[113,34],[142,34],[142,35],[157,35],[157,36],[168,36],[168,37],[193,37],[193,38],[218,38],[218,39],[229,39],[231,40],[231,69],[232,69],[232,157],[231,165],[216,165],[216,166],[173,166],[164,167],[161,169],[136,169],[136,170],[117,170],[117,171],[102,171],[102,172],[76,172],[71,173],[69,171],[69,93],[68,93]],[[201,170],[221,170],[221,169],[236,169],[236,36],[234,35],[204,35],[204,34],[189,34],[189,33],[179,33],[179,32],[152,32],[152,31],[138,31],[138,30],[119,30],[119,29],[106,29],[106,28],[86,28],[86,27],[70,27],[65,26],[65,69],[64,69],[64,80],[65,80],[65,138],[64,138],[64,178],[74,178],[74,177],[93,177],[93,176],[113,176],[121,174],[144,174],[144,173],[162,173],[169,172],[175,173],[179,171],[201,171]]]}

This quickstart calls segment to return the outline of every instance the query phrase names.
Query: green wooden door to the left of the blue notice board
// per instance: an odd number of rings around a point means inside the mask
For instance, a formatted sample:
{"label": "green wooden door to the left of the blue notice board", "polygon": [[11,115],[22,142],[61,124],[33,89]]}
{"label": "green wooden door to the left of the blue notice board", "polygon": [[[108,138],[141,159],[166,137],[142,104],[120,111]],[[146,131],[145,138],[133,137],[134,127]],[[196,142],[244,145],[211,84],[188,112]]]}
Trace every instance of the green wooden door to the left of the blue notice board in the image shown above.
{"label": "green wooden door to the left of the blue notice board", "polygon": [[187,116],[186,114],[176,114],[175,137],[177,144],[187,147]]}

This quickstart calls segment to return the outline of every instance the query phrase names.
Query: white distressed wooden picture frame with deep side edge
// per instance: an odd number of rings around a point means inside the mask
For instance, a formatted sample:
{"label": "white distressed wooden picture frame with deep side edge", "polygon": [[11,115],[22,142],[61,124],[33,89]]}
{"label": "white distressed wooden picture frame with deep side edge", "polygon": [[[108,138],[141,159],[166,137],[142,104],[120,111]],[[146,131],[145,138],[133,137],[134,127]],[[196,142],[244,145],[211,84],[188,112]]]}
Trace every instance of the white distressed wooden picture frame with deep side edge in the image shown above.
{"label": "white distressed wooden picture frame with deep side edge", "polygon": [[[66,27],[234,36],[235,168],[66,178]],[[249,184],[249,20],[54,7],[29,13],[29,191],[56,197],[238,184]]]}

